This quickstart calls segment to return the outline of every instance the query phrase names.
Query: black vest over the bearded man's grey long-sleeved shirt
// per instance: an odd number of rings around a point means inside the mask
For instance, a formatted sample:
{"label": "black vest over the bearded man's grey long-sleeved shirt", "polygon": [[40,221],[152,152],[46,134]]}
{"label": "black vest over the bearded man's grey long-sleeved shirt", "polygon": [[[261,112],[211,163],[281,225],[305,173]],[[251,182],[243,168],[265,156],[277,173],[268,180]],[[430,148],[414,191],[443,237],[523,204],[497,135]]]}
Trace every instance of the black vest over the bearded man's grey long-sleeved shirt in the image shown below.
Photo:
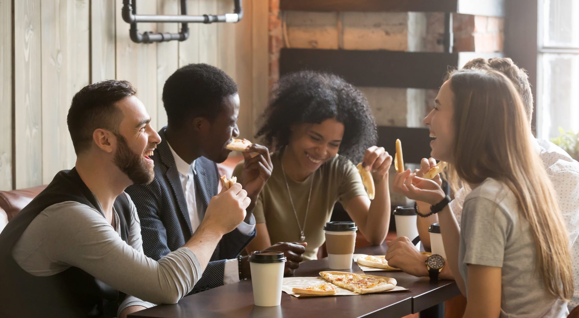
{"label": "black vest over the bearded man's grey long-sleeved shirt", "polygon": [[[14,261],[12,249],[20,235],[51,205],[75,201],[98,210],[97,198],[80,179],[76,168],[57,173],[50,184],[18,213],[0,233],[0,317],[116,317],[124,294],[80,268],[52,276],[34,276]],[[128,242],[130,204],[124,195],[115,200],[120,236]],[[63,224],[63,227],[67,224]]]}

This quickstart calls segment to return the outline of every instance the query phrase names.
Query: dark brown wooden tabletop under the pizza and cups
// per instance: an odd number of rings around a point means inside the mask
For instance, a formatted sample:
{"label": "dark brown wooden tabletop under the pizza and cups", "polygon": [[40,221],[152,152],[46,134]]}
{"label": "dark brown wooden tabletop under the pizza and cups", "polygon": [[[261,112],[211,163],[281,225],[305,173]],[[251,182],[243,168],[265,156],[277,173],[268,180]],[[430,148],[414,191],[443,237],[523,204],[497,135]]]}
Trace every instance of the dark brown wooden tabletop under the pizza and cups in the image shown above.
{"label": "dark brown wooden tabletop under the pizza and cups", "polygon": [[[387,246],[367,246],[356,253],[385,254]],[[328,269],[328,260],[304,262],[295,276],[318,276]],[[360,271],[356,263],[350,272]],[[460,293],[453,280],[431,282],[404,272],[370,272],[371,275],[389,276],[398,285],[409,289],[383,294],[336,297],[294,297],[281,293],[281,305],[259,307],[253,303],[251,280],[227,284],[215,289],[184,297],[175,305],[159,305],[129,315],[130,318],[166,317],[393,317],[420,312]]]}

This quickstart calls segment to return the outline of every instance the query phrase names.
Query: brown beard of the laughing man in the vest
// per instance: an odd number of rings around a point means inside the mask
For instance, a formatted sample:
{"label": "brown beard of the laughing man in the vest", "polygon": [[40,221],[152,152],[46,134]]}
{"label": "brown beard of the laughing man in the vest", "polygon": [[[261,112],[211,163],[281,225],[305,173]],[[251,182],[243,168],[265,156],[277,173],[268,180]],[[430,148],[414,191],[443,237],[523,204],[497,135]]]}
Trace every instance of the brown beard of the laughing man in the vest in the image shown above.
{"label": "brown beard of the laughing man in the vest", "polygon": [[145,164],[145,158],[135,154],[127,144],[127,140],[120,134],[115,134],[118,140],[116,147],[116,167],[124,172],[134,184],[149,184],[155,178],[153,167]]}

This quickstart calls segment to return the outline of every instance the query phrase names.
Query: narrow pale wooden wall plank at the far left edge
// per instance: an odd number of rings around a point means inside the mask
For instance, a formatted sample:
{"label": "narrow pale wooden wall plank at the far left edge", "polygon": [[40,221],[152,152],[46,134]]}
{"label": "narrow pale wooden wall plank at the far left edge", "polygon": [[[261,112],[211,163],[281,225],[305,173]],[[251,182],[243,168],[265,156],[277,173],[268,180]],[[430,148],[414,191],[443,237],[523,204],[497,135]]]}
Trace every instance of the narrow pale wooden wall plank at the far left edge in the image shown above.
{"label": "narrow pale wooden wall plank at the far left edge", "polygon": [[0,0],[0,190],[12,190],[12,0]]}

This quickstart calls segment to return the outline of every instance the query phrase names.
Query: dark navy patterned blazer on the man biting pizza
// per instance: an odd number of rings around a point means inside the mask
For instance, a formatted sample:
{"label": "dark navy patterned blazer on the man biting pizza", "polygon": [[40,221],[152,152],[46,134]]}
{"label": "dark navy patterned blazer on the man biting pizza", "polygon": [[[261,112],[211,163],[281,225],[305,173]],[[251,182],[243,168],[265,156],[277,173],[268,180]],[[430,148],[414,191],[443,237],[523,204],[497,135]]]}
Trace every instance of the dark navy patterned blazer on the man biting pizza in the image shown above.
{"label": "dark navy patterned blazer on the man biting pizza", "polygon": [[[141,220],[143,251],[155,260],[183,246],[193,236],[177,165],[165,139],[166,128],[159,131],[162,141],[152,157],[155,162],[153,182],[133,184],[125,190],[133,199]],[[195,191],[203,201],[201,213],[204,215],[211,197],[217,195],[219,172],[215,162],[205,157],[197,158],[195,170]],[[255,230],[243,234],[237,228],[223,235],[192,293],[221,286],[225,261],[239,256],[254,237]]]}

